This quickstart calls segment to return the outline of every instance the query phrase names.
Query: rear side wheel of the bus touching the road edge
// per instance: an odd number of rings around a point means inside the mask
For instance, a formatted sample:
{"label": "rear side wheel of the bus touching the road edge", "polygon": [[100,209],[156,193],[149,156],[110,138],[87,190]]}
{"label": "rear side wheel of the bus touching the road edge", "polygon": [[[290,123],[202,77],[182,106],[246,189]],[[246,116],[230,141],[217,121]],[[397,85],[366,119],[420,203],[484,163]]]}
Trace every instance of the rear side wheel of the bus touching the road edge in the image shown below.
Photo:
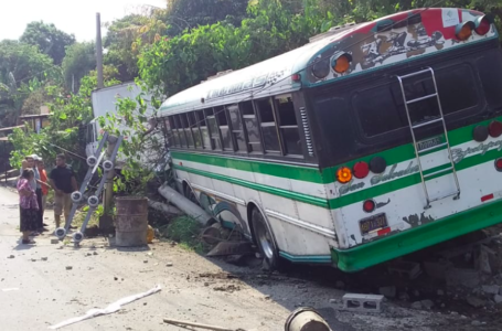
{"label": "rear side wheel of the bus touching the road edge", "polygon": [[253,236],[259,253],[264,257],[264,265],[266,264],[270,271],[281,269],[282,259],[279,256],[274,233],[257,207],[252,211],[252,223]]}

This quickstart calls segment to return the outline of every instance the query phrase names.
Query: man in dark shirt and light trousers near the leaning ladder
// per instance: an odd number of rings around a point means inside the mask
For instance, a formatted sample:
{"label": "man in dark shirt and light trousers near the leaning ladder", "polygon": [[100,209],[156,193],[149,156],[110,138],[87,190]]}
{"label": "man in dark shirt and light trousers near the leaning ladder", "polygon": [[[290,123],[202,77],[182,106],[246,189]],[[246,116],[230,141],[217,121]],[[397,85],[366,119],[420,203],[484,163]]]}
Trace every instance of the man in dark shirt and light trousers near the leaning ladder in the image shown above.
{"label": "man in dark shirt and light trousers near the leaning ladder", "polygon": [[54,220],[56,227],[61,226],[61,215],[64,212],[64,218],[67,222],[72,209],[72,192],[78,191],[75,173],[66,164],[64,154],[56,157],[56,168],[49,175],[51,186],[54,190]]}

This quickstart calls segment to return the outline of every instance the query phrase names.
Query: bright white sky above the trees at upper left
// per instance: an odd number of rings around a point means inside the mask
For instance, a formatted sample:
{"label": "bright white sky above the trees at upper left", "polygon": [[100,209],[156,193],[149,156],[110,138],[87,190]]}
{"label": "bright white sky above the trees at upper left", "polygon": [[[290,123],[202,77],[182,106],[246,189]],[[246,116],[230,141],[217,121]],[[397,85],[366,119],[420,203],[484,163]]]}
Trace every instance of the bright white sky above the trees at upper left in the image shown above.
{"label": "bright white sky above the trees at upper left", "polygon": [[0,0],[0,40],[19,39],[28,23],[44,21],[82,42],[95,40],[97,12],[102,23],[111,22],[140,12],[142,6],[164,8],[165,0]]}

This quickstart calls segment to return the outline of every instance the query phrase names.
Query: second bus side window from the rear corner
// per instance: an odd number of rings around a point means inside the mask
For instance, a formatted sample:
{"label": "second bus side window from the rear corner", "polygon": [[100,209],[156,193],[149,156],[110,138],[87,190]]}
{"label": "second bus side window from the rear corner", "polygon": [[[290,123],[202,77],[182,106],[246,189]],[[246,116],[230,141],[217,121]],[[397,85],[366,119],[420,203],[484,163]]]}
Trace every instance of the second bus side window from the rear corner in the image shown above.
{"label": "second bus side window from the rear corner", "polygon": [[271,98],[257,100],[256,107],[258,109],[261,134],[264,136],[265,151],[269,153],[280,153],[279,137]]}

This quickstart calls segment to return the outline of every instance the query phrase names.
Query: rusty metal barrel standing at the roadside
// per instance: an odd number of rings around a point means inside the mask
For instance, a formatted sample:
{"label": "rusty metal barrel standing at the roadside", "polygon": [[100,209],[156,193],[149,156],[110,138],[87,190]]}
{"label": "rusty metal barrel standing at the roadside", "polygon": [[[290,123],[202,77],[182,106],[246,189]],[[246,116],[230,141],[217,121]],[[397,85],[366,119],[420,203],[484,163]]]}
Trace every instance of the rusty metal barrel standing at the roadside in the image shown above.
{"label": "rusty metal barrel standing at the roadside", "polygon": [[115,244],[120,247],[147,245],[148,199],[120,196],[115,205]]}

